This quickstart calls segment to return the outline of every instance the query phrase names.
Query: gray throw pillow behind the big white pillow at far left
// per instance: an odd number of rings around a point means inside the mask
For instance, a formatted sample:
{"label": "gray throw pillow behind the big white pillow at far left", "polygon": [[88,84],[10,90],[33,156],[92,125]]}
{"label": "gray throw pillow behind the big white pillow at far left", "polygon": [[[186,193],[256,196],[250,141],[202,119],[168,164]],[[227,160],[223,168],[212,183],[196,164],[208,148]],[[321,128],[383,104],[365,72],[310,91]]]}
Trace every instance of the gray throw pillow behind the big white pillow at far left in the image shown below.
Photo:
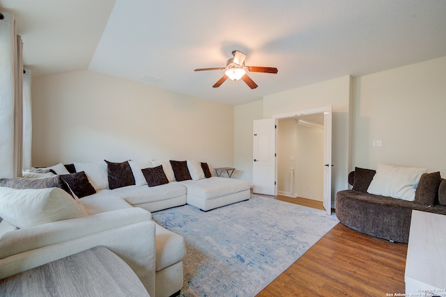
{"label": "gray throw pillow behind the big white pillow at far left", "polygon": [[24,188],[61,188],[63,191],[72,195],[70,187],[59,175],[45,178],[3,178],[0,179],[0,186],[16,188],[18,190]]}

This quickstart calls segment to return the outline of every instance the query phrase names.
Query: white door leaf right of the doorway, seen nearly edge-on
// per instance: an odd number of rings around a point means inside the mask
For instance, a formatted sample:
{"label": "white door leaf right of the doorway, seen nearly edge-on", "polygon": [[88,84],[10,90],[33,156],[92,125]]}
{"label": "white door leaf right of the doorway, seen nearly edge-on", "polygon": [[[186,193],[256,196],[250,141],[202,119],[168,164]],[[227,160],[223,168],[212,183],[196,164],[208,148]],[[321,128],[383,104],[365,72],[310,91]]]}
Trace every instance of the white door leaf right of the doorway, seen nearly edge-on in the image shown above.
{"label": "white door leaf right of the doorway, seen nearly edge-on", "polygon": [[332,214],[332,106],[323,113],[324,129],[324,169],[323,169],[323,207]]}

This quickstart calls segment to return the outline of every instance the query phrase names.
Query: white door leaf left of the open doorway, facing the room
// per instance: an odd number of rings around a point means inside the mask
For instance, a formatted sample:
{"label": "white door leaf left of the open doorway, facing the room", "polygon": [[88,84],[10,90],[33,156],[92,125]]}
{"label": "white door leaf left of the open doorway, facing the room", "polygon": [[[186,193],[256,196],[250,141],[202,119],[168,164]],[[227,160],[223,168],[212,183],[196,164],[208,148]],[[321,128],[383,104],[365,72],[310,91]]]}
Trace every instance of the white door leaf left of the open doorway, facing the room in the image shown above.
{"label": "white door leaf left of the open doorway, facing the room", "polygon": [[276,119],[254,120],[253,192],[276,195]]}

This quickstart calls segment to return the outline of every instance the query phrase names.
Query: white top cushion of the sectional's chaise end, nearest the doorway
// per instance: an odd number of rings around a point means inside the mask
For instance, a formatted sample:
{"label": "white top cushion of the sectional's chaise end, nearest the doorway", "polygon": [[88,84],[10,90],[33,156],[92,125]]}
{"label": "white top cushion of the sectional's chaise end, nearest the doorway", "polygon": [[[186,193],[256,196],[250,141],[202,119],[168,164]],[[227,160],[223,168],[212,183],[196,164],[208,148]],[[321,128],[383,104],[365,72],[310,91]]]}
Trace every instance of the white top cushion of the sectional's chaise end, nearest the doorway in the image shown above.
{"label": "white top cushion of the sectional's chaise end, nearest the doorway", "polygon": [[226,177],[210,177],[200,180],[185,180],[180,182],[187,187],[187,195],[194,195],[203,199],[212,199],[251,188],[251,184],[241,179]]}

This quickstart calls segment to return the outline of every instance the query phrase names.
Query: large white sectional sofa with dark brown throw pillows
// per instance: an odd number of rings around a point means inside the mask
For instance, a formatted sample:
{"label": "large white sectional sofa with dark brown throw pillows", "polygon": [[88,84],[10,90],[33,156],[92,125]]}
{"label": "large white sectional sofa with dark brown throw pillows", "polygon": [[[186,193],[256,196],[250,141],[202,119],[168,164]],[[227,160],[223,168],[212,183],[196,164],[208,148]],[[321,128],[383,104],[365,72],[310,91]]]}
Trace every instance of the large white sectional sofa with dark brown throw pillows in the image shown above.
{"label": "large white sectional sofa with dark brown throw pillows", "polygon": [[[0,179],[0,217],[3,217],[0,222],[0,278],[94,246],[105,246],[132,268],[151,296],[167,297],[178,293],[183,287],[181,259],[185,255],[185,243],[182,236],[153,222],[151,212],[186,203],[208,211],[248,200],[250,184],[238,179],[212,177],[206,163],[173,162],[106,161],[70,166],[59,163],[40,168],[40,172],[52,170],[57,174],[41,178],[42,181],[55,178],[59,183],[60,179],[66,182],[81,209],[79,211],[84,212],[26,227],[17,227],[19,224],[15,224],[14,218],[2,215],[2,211],[5,213],[1,191],[9,185],[7,180]],[[178,168],[189,176],[180,176],[183,173]],[[162,184],[156,184],[159,183],[158,175],[153,172],[159,174],[161,171],[165,179]],[[54,173],[26,175],[47,177]],[[148,180],[153,182],[152,177],[155,177],[155,185],[148,186]],[[57,190],[67,193],[66,189]],[[26,190],[14,191],[22,193]]]}

